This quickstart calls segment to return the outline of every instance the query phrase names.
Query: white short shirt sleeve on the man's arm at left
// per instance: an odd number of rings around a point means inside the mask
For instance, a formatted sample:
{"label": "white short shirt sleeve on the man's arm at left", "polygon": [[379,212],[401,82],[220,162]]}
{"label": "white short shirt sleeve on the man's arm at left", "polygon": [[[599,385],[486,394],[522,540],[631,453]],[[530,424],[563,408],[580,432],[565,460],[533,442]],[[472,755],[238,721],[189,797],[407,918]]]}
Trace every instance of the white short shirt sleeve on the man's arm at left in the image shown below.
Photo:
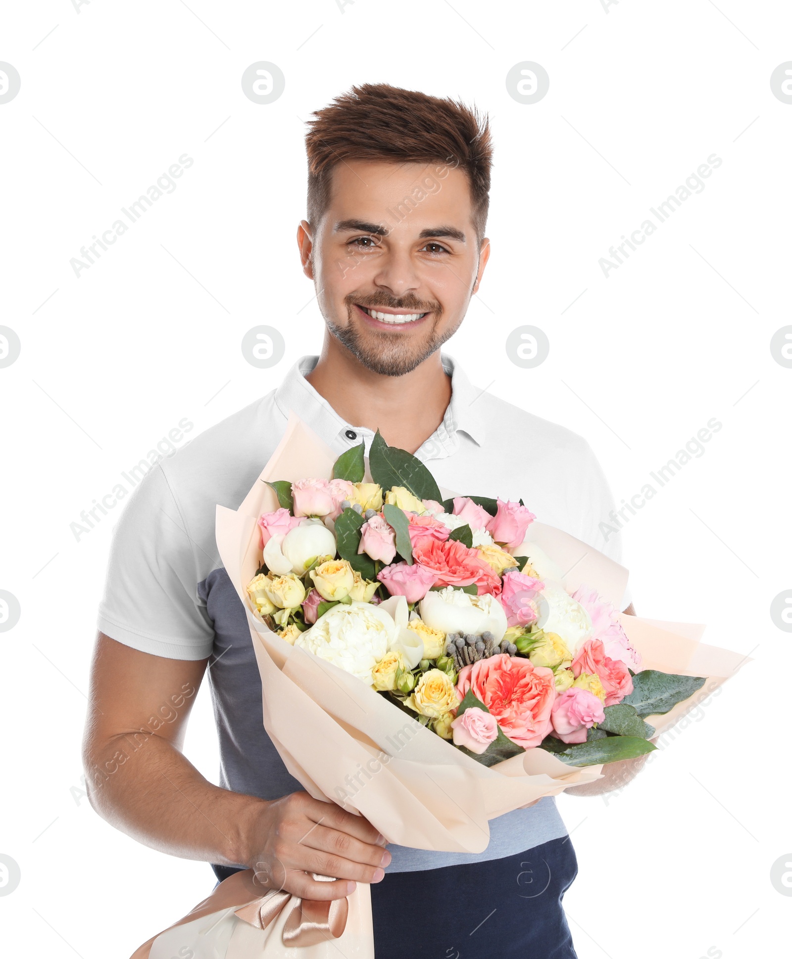
{"label": "white short shirt sleeve on the man's arm at left", "polygon": [[132,493],[115,527],[99,629],[167,659],[209,656],[214,630],[198,597],[199,562],[161,466]]}

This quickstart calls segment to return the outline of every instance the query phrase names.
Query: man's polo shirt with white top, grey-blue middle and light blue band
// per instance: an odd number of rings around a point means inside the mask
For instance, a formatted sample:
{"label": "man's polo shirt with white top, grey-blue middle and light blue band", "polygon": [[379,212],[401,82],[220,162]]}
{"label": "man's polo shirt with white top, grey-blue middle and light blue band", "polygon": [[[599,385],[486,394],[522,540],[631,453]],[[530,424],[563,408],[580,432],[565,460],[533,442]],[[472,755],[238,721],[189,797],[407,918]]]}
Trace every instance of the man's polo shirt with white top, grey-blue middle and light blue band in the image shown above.
{"label": "man's polo shirt with white top, grey-blue middle and light blue band", "polygon": [[[245,611],[217,552],[215,505],[236,509],[275,452],[296,413],[341,454],[371,430],[345,422],[305,379],[317,357],[303,357],[281,386],[197,436],[154,467],[132,493],[116,526],[99,628],[111,639],[168,659],[212,658],[208,681],[220,739],[220,784],[276,799],[301,788],[263,727],[261,680]],[[612,559],[599,524],[611,492],[588,443],[472,386],[443,358],[451,402],[416,456],[441,486],[462,495],[522,501],[541,523],[558,526]],[[622,605],[625,605],[623,603]],[[483,854],[391,846],[389,872],[492,859],[566,834],[552,799],[491,823]]]}

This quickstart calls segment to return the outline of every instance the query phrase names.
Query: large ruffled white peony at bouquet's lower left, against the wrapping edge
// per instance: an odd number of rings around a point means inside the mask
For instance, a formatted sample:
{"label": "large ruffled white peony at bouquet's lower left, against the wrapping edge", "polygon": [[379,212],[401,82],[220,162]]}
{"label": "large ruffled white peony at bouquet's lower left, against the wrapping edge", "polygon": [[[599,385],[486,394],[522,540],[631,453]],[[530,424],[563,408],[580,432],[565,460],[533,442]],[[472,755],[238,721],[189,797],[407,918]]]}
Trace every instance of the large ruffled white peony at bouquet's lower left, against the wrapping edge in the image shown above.
{"label": "large ruffled white peony at bouquet's lower left, against the wrapping edge", "polygon": [[[339,603],[302,633],[295,645],[372,686],[372,670],[390,651],[397,636],[396,622],[379,606],[368,602]],[[422,651],[421,643],[421,654]]]}

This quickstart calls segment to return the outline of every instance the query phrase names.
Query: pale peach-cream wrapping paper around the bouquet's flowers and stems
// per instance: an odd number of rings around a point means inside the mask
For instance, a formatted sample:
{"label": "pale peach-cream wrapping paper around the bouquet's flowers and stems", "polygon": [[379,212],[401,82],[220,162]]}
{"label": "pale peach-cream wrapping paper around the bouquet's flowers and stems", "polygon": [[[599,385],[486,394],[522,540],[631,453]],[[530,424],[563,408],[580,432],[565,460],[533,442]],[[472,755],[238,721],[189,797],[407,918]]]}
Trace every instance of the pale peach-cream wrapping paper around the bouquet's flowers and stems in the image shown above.
{"label": "pale peach-cream wrapping paper around the bouquet's flowers and stems", "polygon": [[[557,795],[568,786],[592,783],[601,778],[602,767],[570,766],[542,749],[484,766],[356,677],[284,643],[252,612],[245,587],[260,563],[256,521],[261,513],[278,506],[266,480],[329,479],[335,459],[316,434],[292,417],[239,509],[217,507],[218,550],[247,611],[261,674],[264,728],[289,772],[307,792],[365,816],[389,842],[481,853],[489,843],[490,819],[543,796]],[[552,526],[533,523],[528,541],[563,571],[568,592],[585,584],[620,608],[628,576],[623,567]],[[643,658],[641,668],[708,676],[708,694],[746,661],[737,653],[699,643],[704,627],[624,615],[621,622]],[[692,708],[694,698],[663,716],[648,716],[647,721],[660,734]],[[229,882],[221,883],[213,896],[222,899]],[[204,908],[211,901],[212,897]],[[225,910],[219,907],[198,920],[185,917],[180,925],[156,937],[150,952],[141,951],[149,947],[146,944],[133,959],[164,959],[178,954],[177,946],[188,946],[197,959],[253,955],[279,959],[298,954],[300,959],[325,959],[339,951],[349,959],[372,959],[368,886],[358,883],[348,901],[347,926],[332,942],[284,947],[282,927],[288,907],[275,923],[259,929],[241,920],[227,903]],[[192,936],[189,942],[187,935]]]}

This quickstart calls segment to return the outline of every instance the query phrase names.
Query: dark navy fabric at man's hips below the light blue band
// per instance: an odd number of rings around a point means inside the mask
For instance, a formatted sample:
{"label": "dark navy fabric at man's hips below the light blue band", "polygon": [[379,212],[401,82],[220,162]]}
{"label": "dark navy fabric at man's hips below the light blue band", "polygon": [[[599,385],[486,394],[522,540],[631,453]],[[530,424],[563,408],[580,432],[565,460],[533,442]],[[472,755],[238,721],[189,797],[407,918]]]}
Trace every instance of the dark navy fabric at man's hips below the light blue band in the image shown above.
{"label": "dark navy fabric at man's hips below the light blue band", "polygon": [[[213,866],[219,879],[234,869]],[[568,836],[503,859],[386,873],[372,885],[376,959],[577,959],[562,899]]]}

